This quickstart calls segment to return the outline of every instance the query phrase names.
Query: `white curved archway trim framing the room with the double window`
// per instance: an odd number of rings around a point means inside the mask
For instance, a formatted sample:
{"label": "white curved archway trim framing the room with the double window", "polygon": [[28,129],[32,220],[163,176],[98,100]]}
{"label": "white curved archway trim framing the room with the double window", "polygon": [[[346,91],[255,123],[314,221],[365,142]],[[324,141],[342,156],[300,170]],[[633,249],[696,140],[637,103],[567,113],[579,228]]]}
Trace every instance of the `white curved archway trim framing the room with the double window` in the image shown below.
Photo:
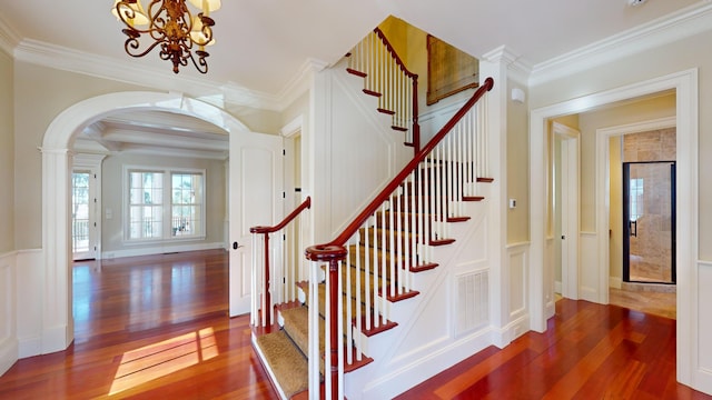
{"label": "white curved archway trim framing the room with the double window", "polygon": [[228,134],[250,130],[224,110],[179,93],[117,92],[90,98],[61,112],[42,140],[42,286],[40,352],[65,350],[73,340],[69,182],[71,147],[89,124],[117,111],[155,110],[191,116]]}

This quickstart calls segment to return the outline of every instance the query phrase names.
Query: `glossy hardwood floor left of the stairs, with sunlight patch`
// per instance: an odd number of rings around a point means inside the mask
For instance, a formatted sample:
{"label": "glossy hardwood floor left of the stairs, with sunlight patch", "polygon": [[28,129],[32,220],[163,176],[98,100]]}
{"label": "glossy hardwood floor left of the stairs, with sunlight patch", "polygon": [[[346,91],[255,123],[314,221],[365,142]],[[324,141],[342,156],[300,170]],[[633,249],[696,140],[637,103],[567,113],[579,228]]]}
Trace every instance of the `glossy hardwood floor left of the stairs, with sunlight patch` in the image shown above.
{"label": "glossy hardwood floor left of the stairs, with sunlight patch", "polygon": [[228,318],[227,253],[77,262],[76,340],[18,361],[1,399],[276,399],[247,317]]}

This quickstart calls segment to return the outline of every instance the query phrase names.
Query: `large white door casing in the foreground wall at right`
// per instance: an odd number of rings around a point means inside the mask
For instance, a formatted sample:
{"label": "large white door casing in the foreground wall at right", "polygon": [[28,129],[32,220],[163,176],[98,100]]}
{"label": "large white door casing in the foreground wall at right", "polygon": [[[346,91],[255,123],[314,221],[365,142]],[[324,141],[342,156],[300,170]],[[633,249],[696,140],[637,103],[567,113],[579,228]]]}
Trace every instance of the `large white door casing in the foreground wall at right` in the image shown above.
{"label": "large white door casing in the foreground wall at right", "polygon": [[[532,110],[530,114],[530,188],[531,188],[531,268],[533,284],[544,287],[545,269],[551,268],[544,263],[545,256],[545,229],[546,229],[546,166],[548,156],[546,148],[545,127],[551,118],[580,113],[596,107],[610,104],[616,101],[635,99],[646,94],[675,91],[675,126],[678,127],[678,286],[684,290],[678,290],[678,381],[693,386],[695,377],[701,376],[699,369],[699,321],[698,312],[699,289],[698,281],[698,248],[699,248],[699,188],[698,188],[698,141],[699,141],[699,98],[698,98],[698,69],[690,69],[669,76],[651,79],[630,86],[611,89],[581,98],[563,101],[548,107]],[[597,188],[605,177],[596,176]],[[605,221],[603,221],[605,222]],[[596,221],[599,251],[607,254],[607,231],[603,231],[605,224]],[[609,271],[599,271],[600,302],[606,303]],[[534,291],[534,293],[543,293]],[[544,331],[546,329],[545,299],[531,299],[532,329]],[[695,318],[693,318],[695,316]]]}

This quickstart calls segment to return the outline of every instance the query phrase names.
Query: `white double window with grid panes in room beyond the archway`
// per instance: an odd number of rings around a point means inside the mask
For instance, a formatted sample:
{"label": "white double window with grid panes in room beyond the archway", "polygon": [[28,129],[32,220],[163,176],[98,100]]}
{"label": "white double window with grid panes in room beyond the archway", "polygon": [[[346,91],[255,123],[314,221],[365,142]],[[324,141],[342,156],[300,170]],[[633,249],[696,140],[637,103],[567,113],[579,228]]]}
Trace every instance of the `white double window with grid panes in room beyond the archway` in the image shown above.
{"label": "white double window with grid panes in room beyond the archway", "polygon": [[204,184],[205,171],[128,169],[127,239],[204,237]]}

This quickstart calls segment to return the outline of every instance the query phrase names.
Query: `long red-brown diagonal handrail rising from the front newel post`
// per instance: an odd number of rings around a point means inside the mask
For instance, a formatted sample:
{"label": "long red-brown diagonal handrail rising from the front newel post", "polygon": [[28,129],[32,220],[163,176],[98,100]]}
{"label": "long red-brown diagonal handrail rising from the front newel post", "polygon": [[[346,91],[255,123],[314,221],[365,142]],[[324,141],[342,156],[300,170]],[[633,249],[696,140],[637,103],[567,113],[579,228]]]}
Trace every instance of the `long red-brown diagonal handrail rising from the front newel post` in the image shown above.
{"label": "long red-brown diagonal handrail rising from the front newel post", "polygon": [[[393,191],[396,190],[396,188],[408,177],[408,174],[413,172],[423,160],[425,160],[427,154],[433,149],[435,149],[435,147],[441,142],[441,140],[443,140],[443,138],[447,136],[447,133],[453,129],[453,127],[455,127],[457,122],[459,122],[459,120],[465,116],[465,113],[467,113],[467,111],[469,111],[475,106],[475,103],[479,100],[479,98],[482,98],[485,94],[485,92],[492,90],[493,87],[494,87],[494,79],[492,78],[485,79],[484,84],[481,86],[477,89],[477,91],[475,91],[472,98],[467,100],[465,106],[463,106],[459,109],[459,111],[457,111],[453,116],[453,118],[451,118],[449,121],[445,123],[445,126],[437,132],[437,134],[435,134],[433,139],[431,139],[431,141],[428,141],[427,144],[425,144],[425,147],[421,151],[418,151],[418,153],[413,158],[413,160],[411,160],[411,162],[408,162],[403,168],[403,170],[400,170],[400,172],[395,178],[393,178],[393,180],[380,191],[380,193],[370,203],[368,203],[368,206],[366,206],[366,208],[354,219],[354,221],[348,227],[346,227],[346,229],[344,229],[342,234],[339,234],[336,239],[329,242],[329,244],[344,246],[348,241],[348,239],[350,239],[354,236],[354,233],[358,231],[358,228],[360,228],[364,224],[364,222],[366,222],[366,220],[370,216],[373,216],[374,212],[376,212],[378,207],[380,207],[380,204],[383,204],[383,202],[388,199],[388,196],[390,196],[390,193],[393,193]],[[318,251],[318,248],[319,248],[318,246],[310,247],[307,249],[307,251],[309,251],[310,249],[314,249],[314,251]]]}

